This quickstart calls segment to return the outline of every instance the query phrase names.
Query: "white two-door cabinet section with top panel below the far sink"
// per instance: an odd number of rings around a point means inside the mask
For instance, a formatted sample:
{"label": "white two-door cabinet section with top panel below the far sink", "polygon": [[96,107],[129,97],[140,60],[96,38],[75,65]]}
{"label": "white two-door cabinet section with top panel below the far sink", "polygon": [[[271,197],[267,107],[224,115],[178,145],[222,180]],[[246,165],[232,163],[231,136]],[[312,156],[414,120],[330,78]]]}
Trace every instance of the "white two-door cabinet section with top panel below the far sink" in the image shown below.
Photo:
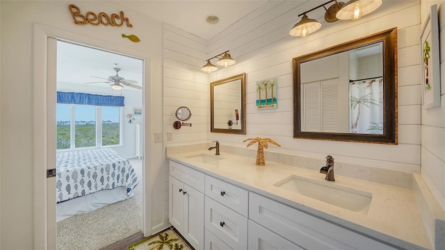
{"label": "white two-door cabinet section with top panel below the far sink", "polygon": [[204,174],[170,160],[168,219],[195,249],[204,249]]}

